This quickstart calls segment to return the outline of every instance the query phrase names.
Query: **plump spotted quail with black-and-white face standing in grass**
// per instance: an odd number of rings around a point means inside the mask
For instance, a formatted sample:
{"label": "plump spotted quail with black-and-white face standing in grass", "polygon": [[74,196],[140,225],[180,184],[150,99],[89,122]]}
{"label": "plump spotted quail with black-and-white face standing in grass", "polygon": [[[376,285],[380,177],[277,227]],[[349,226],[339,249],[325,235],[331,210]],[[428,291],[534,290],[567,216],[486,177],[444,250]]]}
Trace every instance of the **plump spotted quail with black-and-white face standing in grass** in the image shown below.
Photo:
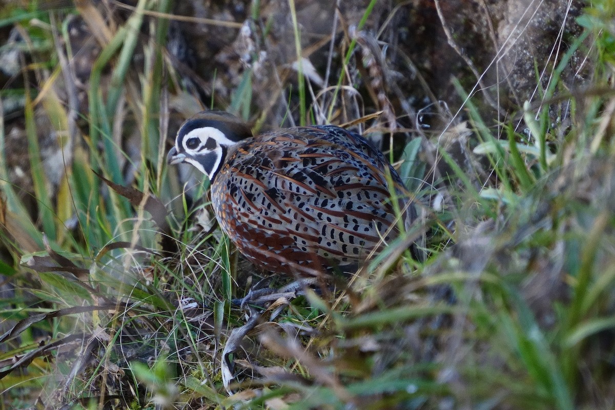
{"label": "plump spotted quail with black-and-white face standing in grass", "polygon": [[384,155],[333,125],[252,136],[231,114],[205,111],[181,126],[168,158],[210,178],[222,230],[271,272],[352,272],[416,219]]}

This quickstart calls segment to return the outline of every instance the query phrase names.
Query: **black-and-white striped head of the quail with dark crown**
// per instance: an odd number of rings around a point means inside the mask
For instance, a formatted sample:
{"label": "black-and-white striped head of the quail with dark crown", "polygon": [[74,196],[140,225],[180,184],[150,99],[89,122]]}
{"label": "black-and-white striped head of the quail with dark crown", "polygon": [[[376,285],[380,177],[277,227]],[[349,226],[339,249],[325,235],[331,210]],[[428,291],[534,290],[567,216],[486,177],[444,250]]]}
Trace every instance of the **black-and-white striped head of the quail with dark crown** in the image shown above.
{"label": "black-and-white striped head of the quail with dark crown", "polygon": [[181,125],[167,163],[194,165],[213,181],[229,147],[251,136],[250,127],[236,116],[224,111],[203,111]]}

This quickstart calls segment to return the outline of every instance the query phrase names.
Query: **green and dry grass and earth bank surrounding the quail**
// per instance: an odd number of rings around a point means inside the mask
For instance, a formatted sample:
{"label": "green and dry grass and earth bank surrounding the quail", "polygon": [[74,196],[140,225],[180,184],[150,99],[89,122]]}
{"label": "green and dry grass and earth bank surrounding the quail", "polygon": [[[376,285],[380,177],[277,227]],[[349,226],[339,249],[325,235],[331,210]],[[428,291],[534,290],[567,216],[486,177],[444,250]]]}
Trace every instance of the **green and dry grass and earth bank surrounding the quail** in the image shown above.
{"label": "green and dry grass and earth bank surrounding the quail", "polygon": [[[612,0],[0,6],[1,409],[615,407]],[[360,130],[421,221],[237,306],[271,276],[164,164],[211,107]]]}

